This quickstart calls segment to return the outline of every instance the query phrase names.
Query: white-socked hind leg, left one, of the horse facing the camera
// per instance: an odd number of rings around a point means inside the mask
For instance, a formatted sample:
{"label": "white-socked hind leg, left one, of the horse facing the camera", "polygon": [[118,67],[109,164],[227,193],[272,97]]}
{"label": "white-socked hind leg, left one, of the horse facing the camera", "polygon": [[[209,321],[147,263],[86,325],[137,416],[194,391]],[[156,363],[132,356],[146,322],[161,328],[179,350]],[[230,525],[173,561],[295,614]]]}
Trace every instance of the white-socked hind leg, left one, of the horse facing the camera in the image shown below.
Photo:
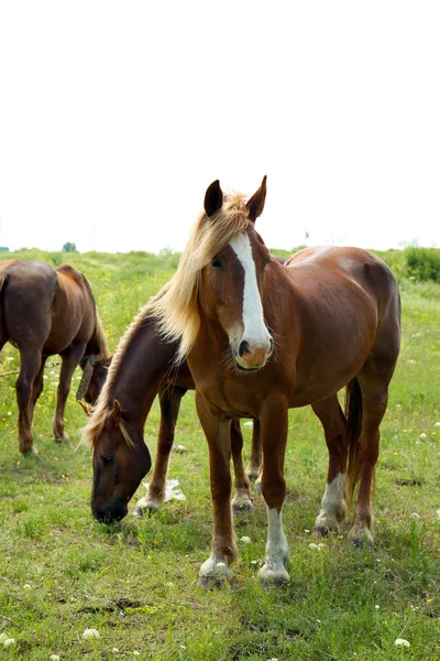
{"label": "white-socked hind leg, left one, of the horse facing the camera", "polygon": [[312,537],[323,538],[330,532],[338,532],[339,524],[346,513],[349,491],[346,475],[348,430],[346,420],[337,394],[314,404],[312,409],[323,426],[329,451],[327,486],[312,532]]}

